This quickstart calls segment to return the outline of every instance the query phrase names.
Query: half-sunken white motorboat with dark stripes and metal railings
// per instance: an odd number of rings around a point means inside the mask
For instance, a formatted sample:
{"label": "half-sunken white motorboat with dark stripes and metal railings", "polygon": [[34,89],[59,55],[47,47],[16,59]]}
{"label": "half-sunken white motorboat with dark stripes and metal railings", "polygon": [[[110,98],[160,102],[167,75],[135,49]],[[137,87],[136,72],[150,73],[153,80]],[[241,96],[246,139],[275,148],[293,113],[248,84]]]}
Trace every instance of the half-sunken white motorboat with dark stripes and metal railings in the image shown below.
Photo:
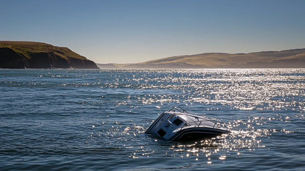
{"label": "half-sunken white motorboat with dark stripes and metal railings", "polygon": [[229,129],[204,117],[174,107],[164,112],[145,132],[170,141],[195,141],[221,134],[230,134]]}

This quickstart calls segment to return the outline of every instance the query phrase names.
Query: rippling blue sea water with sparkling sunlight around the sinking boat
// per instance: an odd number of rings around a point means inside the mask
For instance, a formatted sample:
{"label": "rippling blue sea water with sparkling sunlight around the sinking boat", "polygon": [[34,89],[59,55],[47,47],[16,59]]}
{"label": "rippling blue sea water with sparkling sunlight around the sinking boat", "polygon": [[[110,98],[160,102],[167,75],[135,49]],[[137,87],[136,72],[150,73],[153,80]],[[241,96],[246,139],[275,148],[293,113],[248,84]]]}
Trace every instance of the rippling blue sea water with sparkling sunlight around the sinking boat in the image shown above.
{"label": "rippling blue sea water with sparkling sunlight around the sinking boat", "polygon": [[[305,69],[0,70],[0,170],[305,170]],[[196,141],[164,111],[222,123]]]}

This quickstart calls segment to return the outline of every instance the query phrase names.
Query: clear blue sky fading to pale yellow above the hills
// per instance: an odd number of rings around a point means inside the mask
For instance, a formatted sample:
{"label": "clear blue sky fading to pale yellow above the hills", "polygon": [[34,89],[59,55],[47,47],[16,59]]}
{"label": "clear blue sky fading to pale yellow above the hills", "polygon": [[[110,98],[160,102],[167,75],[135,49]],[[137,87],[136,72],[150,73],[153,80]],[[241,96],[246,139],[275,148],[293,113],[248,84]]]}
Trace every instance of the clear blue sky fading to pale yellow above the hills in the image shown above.
{"label": "clear blue sky fading to pale yellow above the hills", "polygon": [[0,0],[0,40],[96,63],[305,48],[305,0]]}

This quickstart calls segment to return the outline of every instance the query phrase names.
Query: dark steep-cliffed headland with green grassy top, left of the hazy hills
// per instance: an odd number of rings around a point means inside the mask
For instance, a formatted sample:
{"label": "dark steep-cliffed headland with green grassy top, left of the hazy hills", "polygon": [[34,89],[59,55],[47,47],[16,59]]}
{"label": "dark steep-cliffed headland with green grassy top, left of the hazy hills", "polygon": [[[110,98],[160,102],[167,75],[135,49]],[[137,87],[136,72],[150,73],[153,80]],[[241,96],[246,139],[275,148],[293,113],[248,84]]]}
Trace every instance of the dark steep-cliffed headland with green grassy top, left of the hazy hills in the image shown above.
{"label": "dark steep-cliffed headland with green grassy top, left of the hazy hills", "polygon": [[98,69],[93,61],[67,47],[21,41],[0,41],[0,68]]}

